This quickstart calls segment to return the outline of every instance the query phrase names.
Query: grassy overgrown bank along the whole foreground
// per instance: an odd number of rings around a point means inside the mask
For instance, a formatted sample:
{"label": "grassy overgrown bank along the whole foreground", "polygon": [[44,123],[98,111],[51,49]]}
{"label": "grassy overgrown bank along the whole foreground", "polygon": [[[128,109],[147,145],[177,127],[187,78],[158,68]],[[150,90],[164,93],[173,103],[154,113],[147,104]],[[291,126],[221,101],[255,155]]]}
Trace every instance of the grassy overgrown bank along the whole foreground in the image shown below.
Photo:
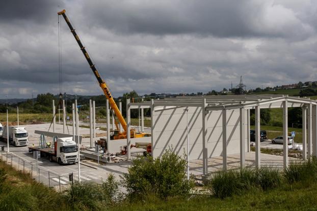
{"label": "grassy overgrown bank along the whole foreground", "polygon": [[114,211],[314,210],[317,206],[317,181],[312,179],[317,174],[314,162],[291,164],[287,171],[280,174],[274,169],[263,169],[259,174],[262,179],[259,180],[255,179],[258,177],[256,171],[219,173],[217,179],[212,180],[214,186],[205,187],[213,195],[206,193],[166,200],[151,194],[145,195],[143,200],[121,197],[119,202],[107,203],[103,207],[100,205],[107,198],[100,198],[98,193],[102,190],[109,192],[111,184],[99,189],[95,184],[84,183],[60,194],[4,162],[0,162],[0,172],[1,210],[93,210],[93,207]]}

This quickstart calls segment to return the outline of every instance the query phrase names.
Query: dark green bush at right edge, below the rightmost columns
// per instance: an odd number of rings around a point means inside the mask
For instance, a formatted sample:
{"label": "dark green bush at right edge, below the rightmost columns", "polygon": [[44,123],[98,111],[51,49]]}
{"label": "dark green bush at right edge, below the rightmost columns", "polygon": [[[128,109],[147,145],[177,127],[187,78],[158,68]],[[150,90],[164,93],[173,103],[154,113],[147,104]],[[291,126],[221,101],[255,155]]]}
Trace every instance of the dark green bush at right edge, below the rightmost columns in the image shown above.
{"label": "dark green bush at right edge, below the rightmost columns", "polygon": [[284,170],[284,177],[288,183],[314,179],[317,175],[317,160],[312,157],[305,162],[291,162]]}

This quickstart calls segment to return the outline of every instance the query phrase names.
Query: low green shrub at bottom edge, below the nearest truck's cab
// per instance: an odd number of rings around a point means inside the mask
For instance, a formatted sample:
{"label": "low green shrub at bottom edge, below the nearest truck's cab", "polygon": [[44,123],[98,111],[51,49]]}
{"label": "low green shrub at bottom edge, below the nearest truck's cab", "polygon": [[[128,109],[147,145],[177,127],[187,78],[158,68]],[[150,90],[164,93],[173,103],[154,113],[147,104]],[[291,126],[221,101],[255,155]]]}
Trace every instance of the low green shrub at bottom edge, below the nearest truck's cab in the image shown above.
{"label": "low green shrub at bottom edge, below the nearest truck's cab", "polygon": [[65,200],[73,210],[102,209],[102,190],[95,183],[74,182],[65,191]]}

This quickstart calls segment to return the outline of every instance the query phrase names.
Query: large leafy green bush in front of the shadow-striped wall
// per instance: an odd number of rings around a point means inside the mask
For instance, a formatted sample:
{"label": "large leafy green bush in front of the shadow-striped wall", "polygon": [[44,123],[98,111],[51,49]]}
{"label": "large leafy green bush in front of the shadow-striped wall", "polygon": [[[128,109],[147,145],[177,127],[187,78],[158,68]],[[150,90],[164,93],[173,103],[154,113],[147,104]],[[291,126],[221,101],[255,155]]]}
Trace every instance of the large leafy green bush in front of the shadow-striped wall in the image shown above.
{"label": "large leafy green bush in front of the shadow-striped wall", "polygon": [[130,198],[187,196],[193,183],[186,178],[186,166],[187,162],[171,149],[161,158],[139,157],[123,175],[122,184]]}

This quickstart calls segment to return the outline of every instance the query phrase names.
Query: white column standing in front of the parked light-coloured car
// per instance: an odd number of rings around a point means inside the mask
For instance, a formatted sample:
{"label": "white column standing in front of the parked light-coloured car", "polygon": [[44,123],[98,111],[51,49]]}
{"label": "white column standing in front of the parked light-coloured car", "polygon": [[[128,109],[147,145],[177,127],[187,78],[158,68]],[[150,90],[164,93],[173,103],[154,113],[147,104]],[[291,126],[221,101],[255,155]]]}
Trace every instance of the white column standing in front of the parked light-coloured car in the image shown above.
{"label": "white column standing in front of the parked light-coloured car", "polygon": [[288,166],[288,114],[287,100],[283,101],[283,167]]}

